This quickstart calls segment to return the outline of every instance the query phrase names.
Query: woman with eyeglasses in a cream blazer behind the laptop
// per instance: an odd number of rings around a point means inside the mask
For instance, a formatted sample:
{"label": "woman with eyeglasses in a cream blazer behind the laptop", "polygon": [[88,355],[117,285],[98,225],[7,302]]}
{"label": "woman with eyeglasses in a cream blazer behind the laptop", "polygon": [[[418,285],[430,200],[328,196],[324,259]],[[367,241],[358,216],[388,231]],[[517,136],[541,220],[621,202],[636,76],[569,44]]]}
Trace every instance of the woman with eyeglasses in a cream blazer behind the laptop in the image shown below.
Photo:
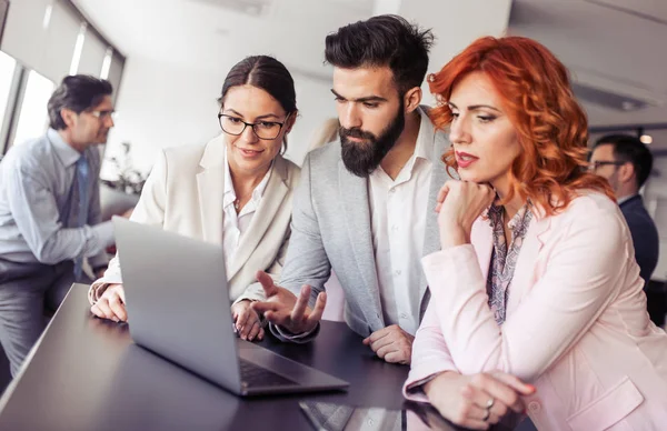
{"label": "woman with eyeglasses in a cream blazer behind the laptop", "polygon": [[[295,83],[280,61],[248,57],[231,68],[218,101],[222,133],[165,150],[131,220],[221,244],[236,329],[242,339],[261,340],[250,308],[265,299],[256,272],[278,275],[282,268],[300,173],[281,156],[298,112]],[[118,257],[91,284],[89,300],[100,318],[128,319]]]}

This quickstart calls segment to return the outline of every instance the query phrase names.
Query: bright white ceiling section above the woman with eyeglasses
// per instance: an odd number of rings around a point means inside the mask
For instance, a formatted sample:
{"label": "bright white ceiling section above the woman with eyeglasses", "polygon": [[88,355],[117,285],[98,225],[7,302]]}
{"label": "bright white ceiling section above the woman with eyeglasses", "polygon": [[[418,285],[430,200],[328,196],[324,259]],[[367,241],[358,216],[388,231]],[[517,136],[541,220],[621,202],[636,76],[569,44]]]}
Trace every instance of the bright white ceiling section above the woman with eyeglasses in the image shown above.
{"label": "bright white ceiling section above the woman with eyeglasses", "polygon": [[[322,40],[367,19],[372,0],[74,0],[128,57],[225,72],[269,53],[290,71],[330,80]],[[119,31],[122,29],[122,31]],[[268,49],[267,49],[268,48]]]}

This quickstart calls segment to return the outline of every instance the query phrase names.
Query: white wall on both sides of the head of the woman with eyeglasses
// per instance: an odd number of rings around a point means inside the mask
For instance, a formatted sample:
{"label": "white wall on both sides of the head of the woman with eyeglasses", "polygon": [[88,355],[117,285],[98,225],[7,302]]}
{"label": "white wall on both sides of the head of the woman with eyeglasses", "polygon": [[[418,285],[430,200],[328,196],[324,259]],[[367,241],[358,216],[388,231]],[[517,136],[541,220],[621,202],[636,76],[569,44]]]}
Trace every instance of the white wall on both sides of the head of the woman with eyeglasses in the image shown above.
{"label": "white wall on both sides of the head of the woman with eyeglasses", "polygon": [[[217,136],[217,98],[232,66],[206,72],[152,59],[128,59],[116,106],[118,120],[106,156],[117,154],[121,142],[130,142],[135,166],[148,172],[160,149],[206,142]],[[336,110],[330,82],[298,73],[293,78],[300,113],[288,137],[287,157],[300,164],[312,132]],[[102,178],[113,178],[109,163],[102,168]]]}

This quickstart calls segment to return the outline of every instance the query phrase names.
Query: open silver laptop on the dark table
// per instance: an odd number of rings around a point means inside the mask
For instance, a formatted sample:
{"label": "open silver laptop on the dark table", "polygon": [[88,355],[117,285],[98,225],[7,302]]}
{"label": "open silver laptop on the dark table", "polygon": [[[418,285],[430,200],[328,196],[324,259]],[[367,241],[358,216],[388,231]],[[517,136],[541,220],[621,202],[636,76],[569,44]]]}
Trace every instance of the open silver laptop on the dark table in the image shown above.
{"label": "open silver laptop on the dark table", "polygon": [[119,217],[113,228],[137,344],[239,395],[347,389],[237,337],[222,247]]}

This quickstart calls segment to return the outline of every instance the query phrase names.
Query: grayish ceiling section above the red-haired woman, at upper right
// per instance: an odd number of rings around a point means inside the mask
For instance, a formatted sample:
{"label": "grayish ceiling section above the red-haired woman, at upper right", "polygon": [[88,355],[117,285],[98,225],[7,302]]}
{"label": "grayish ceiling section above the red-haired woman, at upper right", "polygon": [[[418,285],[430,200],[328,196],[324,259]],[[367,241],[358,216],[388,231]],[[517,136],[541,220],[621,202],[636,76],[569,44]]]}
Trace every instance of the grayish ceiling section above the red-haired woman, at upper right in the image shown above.
{"label": "grayish ceiling section above the red-haired woman, at upper right", "polygon": [[[667,1],[514,0],[508,31],[547,46],[573,80],[648,102],[624,111],[583,100],[591,126],[667,123]],[[651,148],[667,149],[665,131]]]}

